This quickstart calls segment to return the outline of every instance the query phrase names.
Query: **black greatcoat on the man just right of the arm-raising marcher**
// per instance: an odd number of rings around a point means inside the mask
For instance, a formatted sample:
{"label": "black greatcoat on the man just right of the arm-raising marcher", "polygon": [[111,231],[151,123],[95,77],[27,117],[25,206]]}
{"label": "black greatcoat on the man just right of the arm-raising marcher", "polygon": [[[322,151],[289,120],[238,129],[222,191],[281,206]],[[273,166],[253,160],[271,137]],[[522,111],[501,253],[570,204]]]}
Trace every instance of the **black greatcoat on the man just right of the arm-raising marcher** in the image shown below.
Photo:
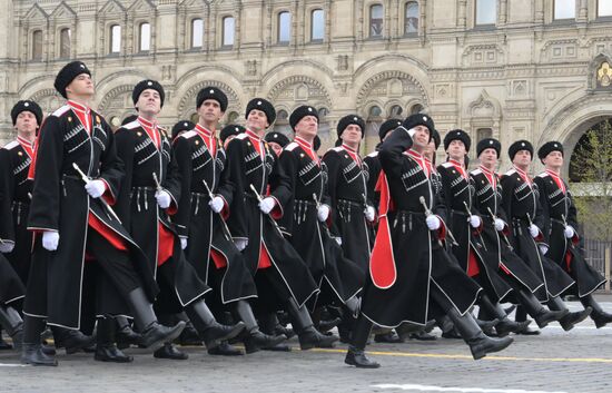
{"label": "black greatcoat on the man just right of the arm-raising marcher", "polygon": [[455,237],[457,245],[452,245],[451,250],[457,258],[464,272],[473,275],[468,267],[470,254],[476,261],[480,274],[477,282],[486,288],[486,293],[494,302],[500,302],[512,291],[511,286],[497,275],[500,269],[499,257],[492,258],[482,245],[481,228],[472,228],[465,205],[472,214],[477,214],[473,206],[474,184],[470,177],[464,177],[453,163],[444,163],[437,167],[440,173],[444,204],[448,215],[448,227]]}

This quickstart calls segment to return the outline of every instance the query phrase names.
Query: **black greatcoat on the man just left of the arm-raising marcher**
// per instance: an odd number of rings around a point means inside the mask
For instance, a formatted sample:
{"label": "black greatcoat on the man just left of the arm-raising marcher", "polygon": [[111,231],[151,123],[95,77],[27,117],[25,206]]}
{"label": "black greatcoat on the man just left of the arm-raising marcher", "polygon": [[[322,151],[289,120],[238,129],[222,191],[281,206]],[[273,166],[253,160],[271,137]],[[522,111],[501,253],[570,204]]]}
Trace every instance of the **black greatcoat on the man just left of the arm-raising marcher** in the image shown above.
{"label": "black greatcoat on the man just left of the arm-raising marcher", "polygon": [[343,147],[323,156],[327,166],[327,191],[332,203],[332,235],[342,238],[344,254],[367,272],[369,228],[364,209],[367,199],[367,167],[356,163]]}

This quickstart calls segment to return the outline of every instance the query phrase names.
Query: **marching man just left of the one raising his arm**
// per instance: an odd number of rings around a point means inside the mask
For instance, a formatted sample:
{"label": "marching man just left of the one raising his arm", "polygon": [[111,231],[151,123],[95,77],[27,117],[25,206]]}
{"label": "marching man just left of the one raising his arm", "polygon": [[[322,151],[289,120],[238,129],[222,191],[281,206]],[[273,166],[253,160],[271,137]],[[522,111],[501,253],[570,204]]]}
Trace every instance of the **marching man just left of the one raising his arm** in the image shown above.
{"label": "marching man just left of the one raising his arm", "polygon": [[327,190],[332,203],[332,234],[347,258],[364,272],[369,263],[368,225],[376,220],[376,210],[367,195],[367,167],[359,157],[365,121],[347,115],[337,126],[339,146],[323,156],[327,166]]}

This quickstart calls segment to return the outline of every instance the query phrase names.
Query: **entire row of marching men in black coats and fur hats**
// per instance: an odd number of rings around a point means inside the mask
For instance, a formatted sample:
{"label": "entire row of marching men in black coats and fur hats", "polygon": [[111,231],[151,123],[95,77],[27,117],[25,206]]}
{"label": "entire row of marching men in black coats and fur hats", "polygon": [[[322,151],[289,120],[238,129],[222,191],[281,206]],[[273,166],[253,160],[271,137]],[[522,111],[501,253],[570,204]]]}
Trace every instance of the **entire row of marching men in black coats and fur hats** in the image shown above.
{"label": "entire row of marching men in black coats and fur hats", "polygon": [[[216,87],[198,92],[198,122],[181,121],[171,136],[157,124],[165,92],[155,80],[134,88],[138,116],[116,132],[89,107],[85,63],[63,67],[55,87],[66,105],[42,120],[36,102],[18,102],[18,138],[0,156],[0,250],[10,261],[0,258],[0,323],[24,363],[57,364],[41,341],[46,326],[67,353],[130,362],[120,337],[178,360],[187,355],[172,342],[186,333],[219,355],[241,354],[236,341],[247,353],[286,351],[293,334],[303,350],[333,346],[338,338],[319,332],[326,310],[351,343],[346,362],[376,367],[364,353],[373,324],[421,331],[435,318],[480,358],[530,323],[510,321],[502,302],[520,304],[540,327],[560,321],[569,330],[589,314],[598,326],[612,320],[591,296],[603,279],[573,243],[571,195],[553,169],[561,193],[550,194],[564,213],[537,193],[549,178],[526,175],[527,141],[511,147],[514,171],[500,181],[499,143],[481,141],[483,164],[467,174],[470,139],[460,130],[446,135],[450,160],[436,170],[440,136],[426,115],[385,124],[378,151],[364,160],[365,124],[346,116],[338,146],[319,159],[309,106],[292,114],[288,143],[266,135],[276,112],[255,98],[246,127],[226,127],[220,141],[228,101]],[[559,144],[543,149],[562,164]],[[565,248],[544,249],[559,244],[550,237],[560,228]],[[572,291],[583,312],[561,301]],[[500,338],[483,333],[474,304]]]}

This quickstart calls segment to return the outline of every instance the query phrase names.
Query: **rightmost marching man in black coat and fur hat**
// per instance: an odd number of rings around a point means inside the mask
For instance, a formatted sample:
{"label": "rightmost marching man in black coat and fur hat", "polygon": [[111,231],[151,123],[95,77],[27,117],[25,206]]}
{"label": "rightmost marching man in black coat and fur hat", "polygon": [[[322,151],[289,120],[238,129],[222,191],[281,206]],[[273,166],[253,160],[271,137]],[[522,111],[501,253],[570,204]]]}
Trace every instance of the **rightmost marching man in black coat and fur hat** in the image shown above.
{"label": "rightmost marching man in black coat and fur hat", "polygon": [[603,327],[612,322],[612,314],[602,310],[592,293],[605,283],[605,278],[591,267],[580,250],[576,233],[576,207],[567,184],[561,178],[563,145],[549,141],[537,150],[537,157],[545,170],[535,177],[542,206],[544,244],[543,254],[561,266],[576,283],[574,294],[585,308],[592,308],[591,318],[595,326]]}

